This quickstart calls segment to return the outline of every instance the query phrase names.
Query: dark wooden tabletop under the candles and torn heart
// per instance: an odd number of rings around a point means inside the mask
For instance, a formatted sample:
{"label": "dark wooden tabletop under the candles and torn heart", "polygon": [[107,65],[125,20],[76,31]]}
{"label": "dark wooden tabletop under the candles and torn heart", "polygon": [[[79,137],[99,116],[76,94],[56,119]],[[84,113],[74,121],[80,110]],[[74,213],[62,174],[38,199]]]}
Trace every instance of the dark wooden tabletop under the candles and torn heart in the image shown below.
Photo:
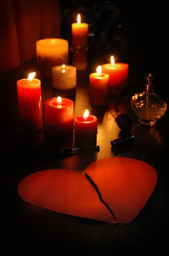
{"label": "dark wooden tabletop under the candles and torn heart", "polygon": [[[128,25],[126,25],[128,26]],[[91,50],[92,51],[92,50]],[[137,55],[135,55],[137,52]],[[149,62],[143,65],[146,58],[139,49],[132,54],[128,47],[119,51],[118,61],[124,61],[130,65],[129,79],[135,76],[145,76],[152,72],[155,76],[157,92],[167,102],[168,90],[165,87],[166,80],[161,78],[164,66],[163,53],[149,58]],[[155,52],[152,52],[154,56]],[[91,52],[89,51],[89,54]],[[79,253],[86,255],[109,255],[110,253],[126,253],[140,251],[155,252],[163,250],[167,246],[168,237],[168,205],[169,205],[169,165],[168,165],[168,141],[169,141],[169,111],[157,122],[154,127],[146,127],[138,124],[135,116],[125,102],[121,103],[121,111],[129,113],[133,126],[131,133],[135,135],[133,143],[120,151],[112,151],[110,141],[117,138],[120,132],[115,122],[115,110],[113,99],[110,99],[108,107],[92,107],[89,104],[88,75],[94,71],[97,64],[105,63],[112,52],[105,54],[93,52],[91,65],[87,71],[78,72],[78,82],[75,99],[75,116],[81,115],[87,108],[91,114],[98,117],[97,145],[100,151],[93,149],[75,154],[63,159],[52,159],[41,162],[23,161],[21,155],[27,151],[20,149],[17,136],[18,110],[16,81],[24,78],[28,73],[37,71],[37,78],[42,81],[42,102],[56,96],[50,79],[42,79],[35,61],[23,65],[11,71],[1,78],[1,232],[3,245],[6,250],[12,247],[13,253],[18,255],[62,255],[63,253]],[[166,57],[166,56],[165,56]],[[151,59],[151,61],[150,61]],[[161,66],[158,66],[161,60]],[[144,90],[144,84],[132,85],[124,93],[131,96]],[[58,95],[59,96],[59,95]],[[67,145],[72,142],[69,141]],[[45,147],[62,147],[62,143],[53,141],[45,143]],[[21,154],[22,153],[22,154]],[[17,186],[27,175],[45,169],[74,169],[83,172],[93,161],[107,157],[131,157],[149,163],[158,174],[158,182],[155,190],[141,210],[138,216],[130,224],[106,224],[90,219],[76,218],[51,212],[35,207],[23,201],[17,193]],[[104,175],[104,171],[103,171]],[[2,240],[1,240],[2,241]]]}

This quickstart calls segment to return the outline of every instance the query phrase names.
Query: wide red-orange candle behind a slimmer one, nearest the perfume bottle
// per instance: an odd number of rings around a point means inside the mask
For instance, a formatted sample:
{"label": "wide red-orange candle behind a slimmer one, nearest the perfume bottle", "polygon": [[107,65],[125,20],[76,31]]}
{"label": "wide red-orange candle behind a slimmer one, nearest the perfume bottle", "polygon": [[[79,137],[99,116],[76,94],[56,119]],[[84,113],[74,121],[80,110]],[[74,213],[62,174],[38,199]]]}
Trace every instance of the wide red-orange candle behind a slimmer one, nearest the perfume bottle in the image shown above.
{"label": "wide red-orange candle behind a slimmer one, nearest the perfume bottle", "polygon": [[101,66],[102,71],[109,75],[108,90],[118,93],[127,84],[129,65],[115,63],[113,56],[111,56],[110,62]]}

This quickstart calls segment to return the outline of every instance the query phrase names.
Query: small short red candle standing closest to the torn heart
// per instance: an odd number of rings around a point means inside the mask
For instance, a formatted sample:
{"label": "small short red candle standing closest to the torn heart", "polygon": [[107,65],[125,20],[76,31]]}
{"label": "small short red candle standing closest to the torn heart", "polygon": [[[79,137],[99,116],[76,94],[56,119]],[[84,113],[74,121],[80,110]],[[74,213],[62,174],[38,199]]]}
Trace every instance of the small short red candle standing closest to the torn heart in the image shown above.
{"label": "small short red candle standing closest to the torn heart", "polygon": [[97,117],[89,115],[86,109],[83,116],[75,118],[75,144],[96,145]]}

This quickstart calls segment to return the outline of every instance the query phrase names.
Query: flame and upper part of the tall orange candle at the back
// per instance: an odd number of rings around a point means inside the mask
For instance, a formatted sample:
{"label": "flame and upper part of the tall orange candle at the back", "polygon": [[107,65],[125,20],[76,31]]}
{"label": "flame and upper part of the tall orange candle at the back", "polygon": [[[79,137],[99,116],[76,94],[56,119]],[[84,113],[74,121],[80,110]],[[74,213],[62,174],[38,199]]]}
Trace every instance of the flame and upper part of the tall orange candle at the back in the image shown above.
{"label": "flame and upper part of the tall orange candle at the back", "polygon": [[88,24],[81,23],[80,14],[77,15],[77,23],[72,24],[72,45],[86,47],[88,35]]}

